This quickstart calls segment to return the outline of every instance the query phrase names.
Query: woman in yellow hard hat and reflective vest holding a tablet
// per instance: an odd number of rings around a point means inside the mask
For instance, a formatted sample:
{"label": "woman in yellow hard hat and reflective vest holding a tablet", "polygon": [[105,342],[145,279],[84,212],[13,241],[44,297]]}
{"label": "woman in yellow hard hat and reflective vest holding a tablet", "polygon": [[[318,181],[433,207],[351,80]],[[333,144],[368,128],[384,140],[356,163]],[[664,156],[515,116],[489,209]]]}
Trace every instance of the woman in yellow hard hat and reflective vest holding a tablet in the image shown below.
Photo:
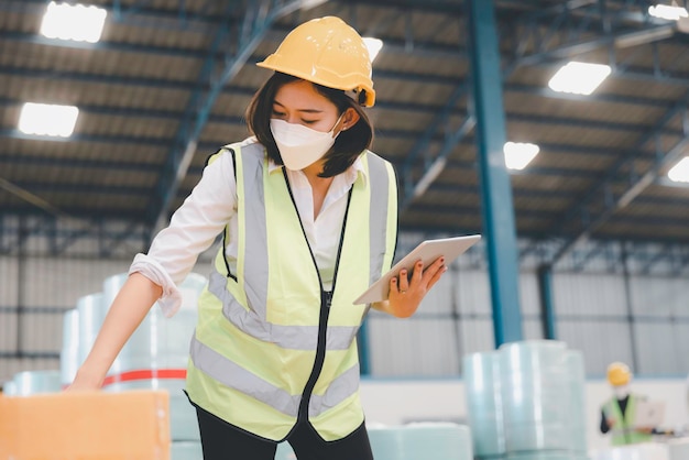
{"label": "woman in yellow hard hat and reflective vest holding a tablet", "polygon": [[[220,150],[147,254],[138,254],[70,390],[97,388],[158,300],[223,233],[192,339],[187,394],[205,459],[372,459],[359,399],[359,294],[390,270],[397,190],[368,151],[362,108],[375,92],[363,41],[338,18],[296,28],[259,64],[274,70],[247,111],[254,136]],[[402,271],[389,299],[414,314],[446,271],[439,259]]]}

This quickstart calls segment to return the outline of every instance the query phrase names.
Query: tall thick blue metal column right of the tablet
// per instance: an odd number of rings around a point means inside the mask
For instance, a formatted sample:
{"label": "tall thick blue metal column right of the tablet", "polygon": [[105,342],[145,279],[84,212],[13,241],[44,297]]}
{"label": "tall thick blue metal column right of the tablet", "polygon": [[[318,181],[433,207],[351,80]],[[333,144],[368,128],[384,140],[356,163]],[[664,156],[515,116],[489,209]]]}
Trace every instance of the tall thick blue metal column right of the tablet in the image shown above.
{"label": "tall thick blue metal column right of the tablet", "polygon": [[505,168],[505,113],[493,0],[468,0],[469,51],[477,119],[483,233],[486,240],[495,347],[522,340],[512,186]]}

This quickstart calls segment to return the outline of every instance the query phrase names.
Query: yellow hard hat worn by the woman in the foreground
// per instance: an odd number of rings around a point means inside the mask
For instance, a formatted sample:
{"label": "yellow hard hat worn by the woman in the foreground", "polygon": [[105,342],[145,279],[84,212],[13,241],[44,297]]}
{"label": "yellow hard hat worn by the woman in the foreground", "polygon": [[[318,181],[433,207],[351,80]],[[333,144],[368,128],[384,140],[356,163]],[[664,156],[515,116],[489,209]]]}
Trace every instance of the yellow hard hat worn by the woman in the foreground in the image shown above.
{"label": "yellow hard hat worn by the woman in the foreground", "polygon": [[297,26],[256,65],[328,88],[353,90],[365,107],[375,103],[369,48],[357,31],[336,17]]}

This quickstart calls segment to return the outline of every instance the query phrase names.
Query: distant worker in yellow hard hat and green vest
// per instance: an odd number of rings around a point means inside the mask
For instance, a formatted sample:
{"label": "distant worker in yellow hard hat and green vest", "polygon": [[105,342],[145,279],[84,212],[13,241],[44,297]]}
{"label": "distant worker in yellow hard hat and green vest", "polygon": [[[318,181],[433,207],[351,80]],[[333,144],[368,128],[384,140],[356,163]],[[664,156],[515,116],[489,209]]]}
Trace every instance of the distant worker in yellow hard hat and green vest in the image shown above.
{"label": "distant worker in yellow hard hat and green vest", "polygon": [[635,427],[636,405],[645,397],[630,391],[632,372],[622,362],[613,362],[608,366],[608,382],[613,396],[601,409],[601,432],[611,434],[613,446],[648,442],[654,427]]}

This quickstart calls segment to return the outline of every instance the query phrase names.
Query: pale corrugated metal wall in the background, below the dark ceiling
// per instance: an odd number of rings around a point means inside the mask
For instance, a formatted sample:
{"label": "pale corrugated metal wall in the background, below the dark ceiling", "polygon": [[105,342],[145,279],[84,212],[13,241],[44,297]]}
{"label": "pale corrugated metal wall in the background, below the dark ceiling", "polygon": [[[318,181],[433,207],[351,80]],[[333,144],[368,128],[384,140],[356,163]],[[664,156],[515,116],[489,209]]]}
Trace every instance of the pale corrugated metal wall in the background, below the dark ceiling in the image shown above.
{"label": "pale corrugated metal wall in the background, below the dark ceiling", "polygon": [[[209,254],[196,272],[208,273]],[[0,258],[0,381],[22,370],[57,369],[65,310],[99,292],[131,259]],[[417,315],[395,319],[372,311],[368,357],[374,376],[457,376],[461,357],[493,348],[489,278],[471,254],[434,287]],[[558,338],[584,352],[589,375],[613,360],[636,374],[689,371],[689,283],[683,278],[556,272],[553,295]],[[526,339],[544,337],[535,272],[520,277]],[[21,315],[18,315],[21,311]]]}

